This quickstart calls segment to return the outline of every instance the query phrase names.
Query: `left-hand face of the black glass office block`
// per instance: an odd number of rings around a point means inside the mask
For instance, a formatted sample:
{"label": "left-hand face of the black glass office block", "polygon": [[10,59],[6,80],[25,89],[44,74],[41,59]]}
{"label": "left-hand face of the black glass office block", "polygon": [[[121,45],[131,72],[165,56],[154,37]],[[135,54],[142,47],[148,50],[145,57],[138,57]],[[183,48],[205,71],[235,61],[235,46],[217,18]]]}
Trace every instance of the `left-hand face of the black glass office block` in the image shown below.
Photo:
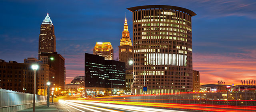
{"label": "left-hand face of the black glass office block", "polygon": [[84,86],[104,88],[104,57],[84,53]]}

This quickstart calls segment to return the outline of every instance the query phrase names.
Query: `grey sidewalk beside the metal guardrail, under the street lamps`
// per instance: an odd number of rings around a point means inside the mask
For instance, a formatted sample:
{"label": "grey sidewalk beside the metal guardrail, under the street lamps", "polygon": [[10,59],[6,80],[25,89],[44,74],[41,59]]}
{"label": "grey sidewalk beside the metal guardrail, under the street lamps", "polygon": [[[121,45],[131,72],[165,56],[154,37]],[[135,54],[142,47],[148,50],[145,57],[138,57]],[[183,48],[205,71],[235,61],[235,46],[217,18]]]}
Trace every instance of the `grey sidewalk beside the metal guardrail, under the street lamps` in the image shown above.
{"label": "grey sidewalk beside the metal guardrail, under the street lamps", "polygon": [[[33,107],[18,112],[33,112]],[[54,104],[50,103],[49,107],[47,107],[47,104],[36,106],[35,112],[58,112],[58,110]]]}

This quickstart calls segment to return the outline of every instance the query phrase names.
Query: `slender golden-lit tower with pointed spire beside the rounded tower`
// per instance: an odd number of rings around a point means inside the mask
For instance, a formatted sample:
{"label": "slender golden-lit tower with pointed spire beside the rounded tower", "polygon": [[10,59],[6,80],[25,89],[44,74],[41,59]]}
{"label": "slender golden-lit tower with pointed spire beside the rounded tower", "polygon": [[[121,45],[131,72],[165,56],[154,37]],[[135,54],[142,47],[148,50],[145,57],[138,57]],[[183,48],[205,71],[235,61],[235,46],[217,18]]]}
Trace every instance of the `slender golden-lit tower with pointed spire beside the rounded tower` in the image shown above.
{"label": "slender golden-lit tower with pointed spire beside the rounded tower", "polygon": [[[126,71],[132,72],[132,66],[129,65],[129,61],[132,60],[132,40],[130,39],[130,32],[128,31],[128,24],[125,17],[124,30],[122,32],[122,38],[120,39],[119,48],[119,61],[125,62]],[[129,73],[130,74],[130,73]]]}

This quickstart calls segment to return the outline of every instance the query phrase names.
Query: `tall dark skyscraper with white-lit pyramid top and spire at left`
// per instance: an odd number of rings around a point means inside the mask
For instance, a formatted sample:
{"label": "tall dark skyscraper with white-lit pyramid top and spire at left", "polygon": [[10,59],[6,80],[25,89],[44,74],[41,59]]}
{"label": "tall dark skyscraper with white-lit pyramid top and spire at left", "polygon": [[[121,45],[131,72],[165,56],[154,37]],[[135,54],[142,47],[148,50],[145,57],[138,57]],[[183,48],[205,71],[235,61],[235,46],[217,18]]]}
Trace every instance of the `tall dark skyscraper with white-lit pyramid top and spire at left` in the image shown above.
{"label": "tall dark skyscraper with white-lit pyramid top and spire at left", "polygon": [[56,38],[54,35],[54,26],[49,14],[47,13],[40,28],[39,43],[38,43],[38,59],[43,52],[56,52]]}

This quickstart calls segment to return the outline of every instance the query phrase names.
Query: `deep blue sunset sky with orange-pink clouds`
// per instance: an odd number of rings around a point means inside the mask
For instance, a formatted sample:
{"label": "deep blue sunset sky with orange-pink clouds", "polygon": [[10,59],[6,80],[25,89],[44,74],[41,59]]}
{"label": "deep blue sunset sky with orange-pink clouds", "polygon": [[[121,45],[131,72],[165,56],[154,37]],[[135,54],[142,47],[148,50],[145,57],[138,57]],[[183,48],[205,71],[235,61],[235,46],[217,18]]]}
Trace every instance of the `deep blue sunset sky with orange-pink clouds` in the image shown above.
{"label": "deep blue sunset sky with orange-pink clouds", "polygon": [[197,14],[192,49],[200,85],[256,80],[255,0],[1,0],[0,59],[38,58],[40,25],[49,10],[70,83],[84,76],[84,52],[93,54],[96,42],[111,42],[116,60],[125,13],[132,39],[132,12],[126,8],[142,5],[179,6]]}

